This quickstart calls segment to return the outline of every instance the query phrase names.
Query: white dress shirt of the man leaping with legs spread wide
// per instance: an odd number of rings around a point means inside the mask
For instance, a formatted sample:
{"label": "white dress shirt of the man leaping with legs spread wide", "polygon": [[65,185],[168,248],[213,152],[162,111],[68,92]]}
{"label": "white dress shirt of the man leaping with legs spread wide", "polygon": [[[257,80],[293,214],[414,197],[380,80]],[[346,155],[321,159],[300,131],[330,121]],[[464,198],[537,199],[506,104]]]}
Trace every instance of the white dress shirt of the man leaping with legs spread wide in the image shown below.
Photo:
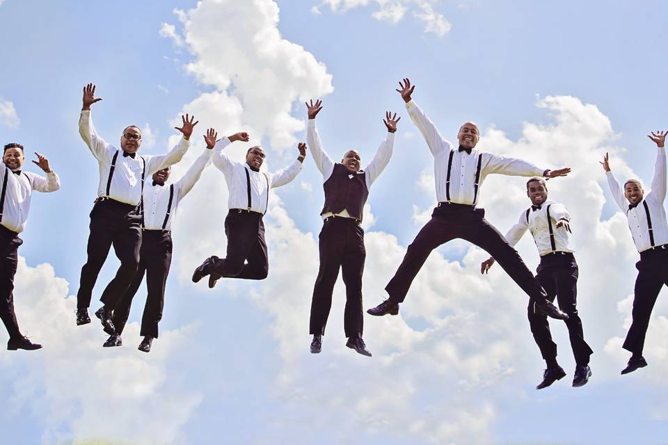
{"label": "white dress shirt of the man leaping with legs spread wide", "polygon": [[[440,136],[434,123],[427,118],[427,115],[415,104],[415,101],[408,102],[406,110],[408,110],[408,115],[411,116],[417,128],[420,129],[424,139],[427,140],[431,154],[434,155],[434,177],[436,179],[436,199],[438,202],[447,202],[447,164],[452,150],[454,150],[454,154],[450,172],[450,202],[456,204],[477,204],[480,197],[480,188],[487,175],[498,173],[500,175],[542,177],[546,170],[521,159],[482,153],[478,193],[475,195],[475,173],[478,156],[481,152],[475,148],[471,150],[471,154],[465,151],[459,152],[458,147]],[[476,202],[473,202],[474,195]]]}

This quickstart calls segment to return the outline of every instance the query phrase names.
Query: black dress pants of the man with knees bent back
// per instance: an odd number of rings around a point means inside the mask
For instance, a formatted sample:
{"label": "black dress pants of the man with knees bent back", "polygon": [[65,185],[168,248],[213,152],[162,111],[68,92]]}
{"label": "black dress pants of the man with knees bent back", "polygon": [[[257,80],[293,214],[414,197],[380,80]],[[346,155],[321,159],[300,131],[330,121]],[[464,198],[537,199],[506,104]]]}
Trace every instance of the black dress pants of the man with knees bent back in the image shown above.
{"label": "black dress pants of the man with knees bent back", "polygon": [[230,209],[225,218],[228,250],[225,258],[214,257],[207,272],[214,277],[264,280],[269,273],[267,242],[262,213]]}

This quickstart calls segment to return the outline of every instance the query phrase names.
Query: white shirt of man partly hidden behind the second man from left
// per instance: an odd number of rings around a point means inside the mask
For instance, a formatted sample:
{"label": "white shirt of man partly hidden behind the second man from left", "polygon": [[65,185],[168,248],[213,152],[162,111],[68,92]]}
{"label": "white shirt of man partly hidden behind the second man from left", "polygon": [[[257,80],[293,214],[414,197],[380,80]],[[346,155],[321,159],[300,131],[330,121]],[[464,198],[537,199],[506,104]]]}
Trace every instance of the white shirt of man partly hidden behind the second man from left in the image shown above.
{"label": "white shirt of man partly hidden behind the second man from left", "polygon": [[195,183],[202,176],[202,171],[211,159],[213,149],[205,149],[200,157],[191,165],[186,174],[178,181],[171,184],[174,186],[174,195],[172,197],[172,207],[165,223],[167,208],[169,206],[170,184],[159,186],[153,185],[153,179],[148,178],[144,184],[144,229],[147,230],[171,230],[172,220],[176,216],[176,210],[179,203],[185,195],[193,188]]}

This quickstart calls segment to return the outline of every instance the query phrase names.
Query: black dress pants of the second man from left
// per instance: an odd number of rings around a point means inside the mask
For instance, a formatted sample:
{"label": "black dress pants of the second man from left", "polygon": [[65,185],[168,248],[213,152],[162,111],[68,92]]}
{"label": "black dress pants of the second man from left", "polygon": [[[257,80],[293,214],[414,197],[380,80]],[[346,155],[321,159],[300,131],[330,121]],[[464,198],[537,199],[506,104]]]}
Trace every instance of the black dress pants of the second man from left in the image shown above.
{"label": "black dress pants of the second man from left", "polygon": [[118,299],[125,294],[137,271],[141,247],[141,216],[136,207],[130,204],[104,199],[95,203],[93,211],[90,212],[88,259],[81,268],[77,308],[90,306],[93,286],[112,245],[120,260],[120,267],[100,298],[110,309],[116,307]]}

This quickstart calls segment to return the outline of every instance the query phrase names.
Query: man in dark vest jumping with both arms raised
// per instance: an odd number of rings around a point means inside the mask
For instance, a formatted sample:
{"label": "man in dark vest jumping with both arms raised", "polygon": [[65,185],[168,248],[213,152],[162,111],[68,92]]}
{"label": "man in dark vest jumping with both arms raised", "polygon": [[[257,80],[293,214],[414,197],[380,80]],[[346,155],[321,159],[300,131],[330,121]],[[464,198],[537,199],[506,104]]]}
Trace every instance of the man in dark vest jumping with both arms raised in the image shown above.
{"label": "man in dark vest jumping with both arms raised", "polygon": [[346,346],[362,355],[371,357],[362,339],[362,274],[367,252],[364,247],[362,223],[364,204],[367,202],[369,188],[385,169],[392,156],[392,147],[397,131],[397,114],[385,114],[385,127],[388,134],[381,143],[376,156],[367,165],[360,168],[360,154],[349,150],[340,163],[335,163],[322,148],[320,136],[315,126],[315,117],[321,110],[322,102],[306,104],[308,108],[308,146],[313,154],[313,161],[320,170],[325,191],[325,204],[320,212],[323,219],[319,236],[320,270],[313,289],[311,301],[310,333],[311,353],[317,354],[322,348],[322,336],[329,311],[332,307],[332,292],[339,276],[343,273],[346,284],[346,308],[344,312],[344,332],[348,341]]}

